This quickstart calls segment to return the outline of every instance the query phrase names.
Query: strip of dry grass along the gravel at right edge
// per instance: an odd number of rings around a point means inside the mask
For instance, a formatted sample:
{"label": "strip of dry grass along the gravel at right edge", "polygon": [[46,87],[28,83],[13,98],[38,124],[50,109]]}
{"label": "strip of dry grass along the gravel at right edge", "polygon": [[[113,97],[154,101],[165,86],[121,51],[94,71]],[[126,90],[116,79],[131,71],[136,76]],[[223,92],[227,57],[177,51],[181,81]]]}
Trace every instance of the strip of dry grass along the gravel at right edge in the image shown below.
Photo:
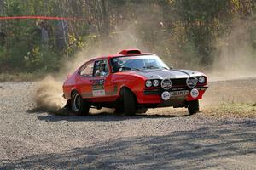
{"label": "strip of dry grass along the gravel at right edge", "polygon": [[209,116],[256,117],[256,103],[223,103],[203,111]]}

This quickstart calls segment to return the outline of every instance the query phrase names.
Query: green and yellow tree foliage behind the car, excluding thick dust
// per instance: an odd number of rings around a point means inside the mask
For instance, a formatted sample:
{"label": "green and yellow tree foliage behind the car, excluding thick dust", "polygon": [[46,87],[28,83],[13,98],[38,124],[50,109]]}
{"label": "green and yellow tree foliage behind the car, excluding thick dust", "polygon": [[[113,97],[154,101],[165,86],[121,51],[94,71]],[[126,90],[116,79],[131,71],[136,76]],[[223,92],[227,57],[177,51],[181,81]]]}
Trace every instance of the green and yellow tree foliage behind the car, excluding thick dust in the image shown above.
{"label": "green and yellow tree foliage behind the car, excluding thick dust", "polygon": [[[3,0],[1,4],[1,16],[79,19],[68,21],[63,49],[56,45],[56,20],[45,21],[49,26],[49,42],[41,38],[42,20],[0,20],[0,31],[6,35],[5,43],[0,45],[1,72],[58,71],[61,60],[72,58],[81,48],[94,48],[98,42],[114,41],[109,37],[118,34],[130,35],[141,42],[142,47],[160,54],[175,66],[211,66],[220,54],[216,43],[226,43],[223,37],[230,34],[233,24],[237,20],[251,20],[252,23],[256,20],[253,0],[30,0],[26,3]],[[256,51],[255,28],[254,24],[249,29],[253,52]],[[124,31],[126,34],[122,33]]]}

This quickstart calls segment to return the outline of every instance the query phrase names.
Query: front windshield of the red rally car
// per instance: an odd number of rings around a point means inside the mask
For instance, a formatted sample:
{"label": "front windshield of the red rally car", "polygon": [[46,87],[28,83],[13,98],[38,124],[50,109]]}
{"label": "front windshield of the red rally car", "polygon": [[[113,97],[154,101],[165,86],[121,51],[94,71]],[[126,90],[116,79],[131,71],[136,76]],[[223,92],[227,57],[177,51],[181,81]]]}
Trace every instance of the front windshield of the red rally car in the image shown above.
{"label": "front windshield of the red rally car", "polygon": [[156,55],[124,56],[111,59],[114,72],[169,69]]}

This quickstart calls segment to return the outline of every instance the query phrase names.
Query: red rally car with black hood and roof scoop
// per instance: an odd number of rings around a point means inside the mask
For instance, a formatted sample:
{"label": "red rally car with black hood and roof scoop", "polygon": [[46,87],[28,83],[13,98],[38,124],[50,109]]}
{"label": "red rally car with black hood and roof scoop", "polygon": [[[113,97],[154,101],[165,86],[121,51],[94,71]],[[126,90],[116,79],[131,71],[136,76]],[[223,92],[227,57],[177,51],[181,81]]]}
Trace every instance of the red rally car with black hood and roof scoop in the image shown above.
{"label": "red rally car with black hood and roof scoop", "polygon": [[131,116],[169,106],[187,107],[195,114],[206,90],[205,74],[169,68],[155,54],[138,49],[90,59],[63,84],[67,106],[79,115],[91,107],[115,108]]}

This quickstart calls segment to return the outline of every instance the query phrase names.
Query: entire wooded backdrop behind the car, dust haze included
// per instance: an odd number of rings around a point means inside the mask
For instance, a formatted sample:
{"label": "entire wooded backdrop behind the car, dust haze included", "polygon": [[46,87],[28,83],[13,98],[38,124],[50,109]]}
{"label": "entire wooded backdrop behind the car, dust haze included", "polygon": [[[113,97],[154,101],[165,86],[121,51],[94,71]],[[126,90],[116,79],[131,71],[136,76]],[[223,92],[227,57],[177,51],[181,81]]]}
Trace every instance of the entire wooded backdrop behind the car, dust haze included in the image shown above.
{"label": "entire wooded backdrop behind the car, dust haze included", "polygon": [[176,68],[255,71],[256,0],[0,0],[0,18],[1,80],[55,73],[78,54],[85,61],[123,48]]}

